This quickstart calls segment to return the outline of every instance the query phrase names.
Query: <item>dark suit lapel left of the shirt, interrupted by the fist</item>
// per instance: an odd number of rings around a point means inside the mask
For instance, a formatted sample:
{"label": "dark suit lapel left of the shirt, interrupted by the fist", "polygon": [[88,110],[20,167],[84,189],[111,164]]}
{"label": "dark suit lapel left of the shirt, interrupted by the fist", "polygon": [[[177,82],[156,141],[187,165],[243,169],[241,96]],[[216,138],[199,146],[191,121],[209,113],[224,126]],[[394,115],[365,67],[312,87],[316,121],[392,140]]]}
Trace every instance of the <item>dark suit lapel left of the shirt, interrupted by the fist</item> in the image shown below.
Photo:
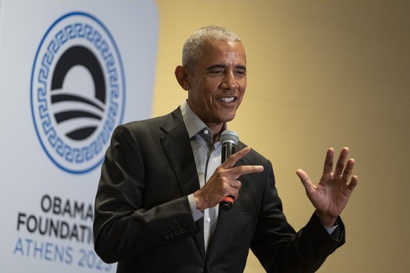
{"label": "dark suit lapel left of the shirt, interrupted by the fist", "polygon": [[[161,137],[161,144],[180,186],[181,195],[190,195],[194,191],[199,190],[199,179],[190,137],[188,136],[179,108],[164,117],[161,129],[166,132]],[[194,238],[197,241],[202,258],[205,260],[204,222],[200,219],[196,224],[201,232],[194,234]]]}

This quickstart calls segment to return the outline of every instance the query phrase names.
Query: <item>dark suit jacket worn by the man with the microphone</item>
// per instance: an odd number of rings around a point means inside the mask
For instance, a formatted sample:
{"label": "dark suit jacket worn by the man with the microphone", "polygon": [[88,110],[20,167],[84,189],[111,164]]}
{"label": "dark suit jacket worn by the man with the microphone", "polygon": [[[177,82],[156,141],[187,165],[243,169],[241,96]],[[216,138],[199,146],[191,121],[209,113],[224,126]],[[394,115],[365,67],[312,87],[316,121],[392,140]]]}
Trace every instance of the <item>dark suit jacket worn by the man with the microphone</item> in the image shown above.
{"label": "dark suit jacket worn by the man with the microphone", "polygon": [[[237,151],[243,148],[237,144]],[[199,189],[194,155],[180,109],[120,125],[101,168],[95,201],[94,248],[117,272],[243,272],[249,248],[267,272],[314,272],[344,243],[313,215],[296,233],[282,213],[271,162],[251,151],[232,210],[220,210],[208,253],[202,221],[187,195]]]}

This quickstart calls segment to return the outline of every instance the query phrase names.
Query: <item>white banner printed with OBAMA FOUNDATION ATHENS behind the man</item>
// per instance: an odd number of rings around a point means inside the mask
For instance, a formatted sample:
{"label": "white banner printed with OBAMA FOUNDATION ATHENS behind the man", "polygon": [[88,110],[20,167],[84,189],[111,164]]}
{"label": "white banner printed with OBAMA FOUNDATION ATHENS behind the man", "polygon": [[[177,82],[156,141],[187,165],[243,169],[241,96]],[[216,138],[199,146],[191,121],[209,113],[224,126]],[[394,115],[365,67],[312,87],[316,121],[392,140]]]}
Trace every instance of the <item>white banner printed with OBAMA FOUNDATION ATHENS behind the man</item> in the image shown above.
{"label": "white banner printed with OBAMA FOUNDATION ATHENS behind the man", "polygon": [[115,272],[94,253],[113,129],[151,116],[151,1],[0,0],[0,272]]}

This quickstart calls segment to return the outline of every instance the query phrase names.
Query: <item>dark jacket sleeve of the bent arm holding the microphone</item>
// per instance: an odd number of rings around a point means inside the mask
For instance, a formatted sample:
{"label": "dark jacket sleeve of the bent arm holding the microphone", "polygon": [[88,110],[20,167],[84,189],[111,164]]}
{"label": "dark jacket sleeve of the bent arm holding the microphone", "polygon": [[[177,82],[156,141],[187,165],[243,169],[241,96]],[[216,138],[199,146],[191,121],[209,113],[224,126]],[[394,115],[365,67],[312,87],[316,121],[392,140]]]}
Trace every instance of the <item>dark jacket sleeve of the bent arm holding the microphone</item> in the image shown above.
{"label": "dark jacket sleeve of the bent arm holding the microphone", "polygon": [[151,144],[139,144],[132,129],[121,125],[101,167],[93,229],[94,248],[104,262],[146,253],[197,232],[187,196],[145,205],[147,179],[154,174],[145,170],[140,145]]}

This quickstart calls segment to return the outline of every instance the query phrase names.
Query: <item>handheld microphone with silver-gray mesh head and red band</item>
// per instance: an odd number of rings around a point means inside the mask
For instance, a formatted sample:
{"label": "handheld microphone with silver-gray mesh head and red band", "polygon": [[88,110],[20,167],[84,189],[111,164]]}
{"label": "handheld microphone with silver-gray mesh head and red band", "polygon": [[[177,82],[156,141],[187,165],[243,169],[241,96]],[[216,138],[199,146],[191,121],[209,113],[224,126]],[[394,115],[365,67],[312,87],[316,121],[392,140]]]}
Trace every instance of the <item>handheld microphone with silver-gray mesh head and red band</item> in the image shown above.
{"label": "handheld microphone with silver-gray mesh head and red band", "polygon": [[[219,141],[222,144],[222,154],[220,157],[220,163],[224,163],[230,155],[235,153],[235,146],[239,137],[237,134],[232,130],[225,130],[219,136]],[[225,196],[222,201],[220,201],[219,206],[223,210],[230,210],[233,204],[233,197],[232,196]]]}

